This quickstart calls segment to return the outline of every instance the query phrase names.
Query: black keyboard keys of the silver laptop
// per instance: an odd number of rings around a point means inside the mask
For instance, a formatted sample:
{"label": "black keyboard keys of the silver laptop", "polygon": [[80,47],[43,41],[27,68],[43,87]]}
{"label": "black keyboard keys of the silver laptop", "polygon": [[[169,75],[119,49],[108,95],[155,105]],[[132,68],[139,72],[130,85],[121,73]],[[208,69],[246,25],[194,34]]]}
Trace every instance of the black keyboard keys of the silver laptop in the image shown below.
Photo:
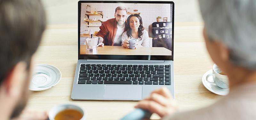
{"label": "black keyboard keys of the silver laptop", "polygon": [[81,64],[78,84],[171,85],[170,65]]}

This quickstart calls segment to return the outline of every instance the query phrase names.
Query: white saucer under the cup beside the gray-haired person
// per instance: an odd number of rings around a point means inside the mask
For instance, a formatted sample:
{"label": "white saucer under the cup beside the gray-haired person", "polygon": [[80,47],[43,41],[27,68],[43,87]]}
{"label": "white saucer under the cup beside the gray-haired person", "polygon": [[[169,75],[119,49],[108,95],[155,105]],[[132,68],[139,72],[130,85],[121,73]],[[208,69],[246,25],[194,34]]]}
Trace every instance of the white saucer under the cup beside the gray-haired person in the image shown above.
{"label": "white saucer under the cup beside the gray-haired person", "polygon": [[[204,73],[203,75],[203,78],[202,78],[202,82],[204,84],[204,87],[206,89],[208,89],[209,91],[215,93],[215,94],[218,94],[218,95],[227,95],[228,92],[229,92],[229,89],[222,89],[220,87],[218,87],[217,85],[213,85],[213,84],[210,84],[207,80],[206,80],[206,76],[208,74],[212,73],[212,69],[207,71],[206,73]],[[213,82],[213,79],[212,79],[212,76],[209,76],[209,81],[210,82]]]}

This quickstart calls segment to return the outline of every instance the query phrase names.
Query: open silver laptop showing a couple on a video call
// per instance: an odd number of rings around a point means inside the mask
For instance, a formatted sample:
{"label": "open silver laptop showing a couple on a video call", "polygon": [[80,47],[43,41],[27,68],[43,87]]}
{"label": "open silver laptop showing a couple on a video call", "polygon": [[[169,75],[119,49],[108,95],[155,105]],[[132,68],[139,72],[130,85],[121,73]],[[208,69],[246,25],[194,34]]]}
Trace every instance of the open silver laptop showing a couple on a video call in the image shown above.
{"label": "open silver laptop showing a couple on a video call", "polygon": [[173,30],[171,1],[78,1],[71,99],[142,100],[161,87],[175,98]]}

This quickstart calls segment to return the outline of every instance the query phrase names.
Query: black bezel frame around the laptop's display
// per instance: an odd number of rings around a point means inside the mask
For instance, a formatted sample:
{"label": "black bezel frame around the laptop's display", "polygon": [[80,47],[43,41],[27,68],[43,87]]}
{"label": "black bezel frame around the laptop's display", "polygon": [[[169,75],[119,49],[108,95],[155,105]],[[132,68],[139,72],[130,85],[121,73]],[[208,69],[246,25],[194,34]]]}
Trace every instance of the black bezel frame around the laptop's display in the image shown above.
{"label": "black bezel frame around the laptop's display", "polygon": [[[172,55],[87,55],[80,54],[80,24],[81,3],[148,3],[148,4],[172,4]],[[174,43],[174,2],[172,1],[78,1],[78,60],[172,60]],[[129,57],[127,57],[129,56]]]}

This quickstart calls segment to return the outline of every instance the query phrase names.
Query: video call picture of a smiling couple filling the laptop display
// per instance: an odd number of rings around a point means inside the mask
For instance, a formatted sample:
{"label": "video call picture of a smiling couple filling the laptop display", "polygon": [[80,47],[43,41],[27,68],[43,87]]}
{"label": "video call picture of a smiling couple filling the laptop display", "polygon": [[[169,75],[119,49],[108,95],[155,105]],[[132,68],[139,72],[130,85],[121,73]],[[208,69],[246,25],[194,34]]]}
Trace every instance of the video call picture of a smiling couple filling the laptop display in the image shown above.
{"label": "video call picture of a smiling couple filling the laptop display", "polygon": [[172,55],[172,4],[82,3],[80,54]]}

